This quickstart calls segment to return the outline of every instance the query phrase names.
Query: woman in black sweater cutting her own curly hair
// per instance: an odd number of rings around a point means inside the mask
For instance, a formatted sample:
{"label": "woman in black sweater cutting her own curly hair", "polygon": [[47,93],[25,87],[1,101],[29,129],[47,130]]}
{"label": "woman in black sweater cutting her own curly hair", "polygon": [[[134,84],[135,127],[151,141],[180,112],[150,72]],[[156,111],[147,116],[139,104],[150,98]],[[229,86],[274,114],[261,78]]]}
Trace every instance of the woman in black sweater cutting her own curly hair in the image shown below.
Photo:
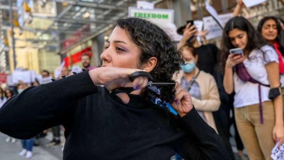
{"label": "woman in black sweater cutting her own curly hair", "polygon": [[100,58],[100,68],[27,88],[5,103],[0,131],[28,139],[63,124],[63,159],[170,159],[176,152],[184,159],[228,159],[222,139],[173,82],[183,60],[160,27],[141,18],[117,20]]}

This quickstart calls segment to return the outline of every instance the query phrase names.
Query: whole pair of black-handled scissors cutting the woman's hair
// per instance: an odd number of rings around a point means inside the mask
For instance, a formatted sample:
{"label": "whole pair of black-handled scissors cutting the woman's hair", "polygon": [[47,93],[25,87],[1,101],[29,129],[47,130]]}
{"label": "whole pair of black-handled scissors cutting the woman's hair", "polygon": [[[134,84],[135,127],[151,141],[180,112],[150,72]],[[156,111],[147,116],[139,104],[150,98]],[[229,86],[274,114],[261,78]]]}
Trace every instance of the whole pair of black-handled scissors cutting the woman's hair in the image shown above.
{"label": "whole pair of black-handled scissors cutting the woman's hair", "polygon": [[[145,87],[150,88],[150,89],[152,87],[161,86],[161,85],[175,85],[175,83],[154,83],[154,82],[152,82],[153,78],[150,75],[150,73],[145,72],[145,71],[134,72],[134,73],[132,73],[131,75],[128,76],[128,78],[131,82],[134,81],[134,79],[137,78],[137,77],[147,77],[149,79],[149,81],[148,81],[148,83],[146,84]],[[154,92],[158,92],[157,88],[151,89],[151,90],[153,90]],[[109,92],[109,94],[111,96],[114,96],[117,93],[123,93],[123,92],[130,93],[132,91],[134,91],[133,87],[119,87],[119,88],[115,88],[115,89],[111,90]]]}

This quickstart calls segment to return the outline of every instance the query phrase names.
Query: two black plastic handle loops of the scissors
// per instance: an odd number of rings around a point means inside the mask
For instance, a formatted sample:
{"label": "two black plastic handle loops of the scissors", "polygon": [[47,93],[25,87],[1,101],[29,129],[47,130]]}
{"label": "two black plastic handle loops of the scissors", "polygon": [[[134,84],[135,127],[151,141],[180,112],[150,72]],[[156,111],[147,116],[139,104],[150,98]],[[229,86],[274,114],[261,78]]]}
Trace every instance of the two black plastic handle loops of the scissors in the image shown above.
{"label": "two black plastic handle loops of the scissors", "polygon": [[[134,81],[134,79],[137,78],[137,77],[147,77],[149,81],[152,81],[152,79],[153,79],[152,76],[150,75],[150,73],[145,72],[145,71],[134,72],[131,75],[129,75],[128,77],[129,77],[129,80],[131,82]],[[109,94],[113,97],[117,93],[123,93],[123,92],[124,93],[130,93],[132,91],[134,91],[133,87],[119,87],[119,88],[115,88],[115,89],[111,90],[109,92]]]}

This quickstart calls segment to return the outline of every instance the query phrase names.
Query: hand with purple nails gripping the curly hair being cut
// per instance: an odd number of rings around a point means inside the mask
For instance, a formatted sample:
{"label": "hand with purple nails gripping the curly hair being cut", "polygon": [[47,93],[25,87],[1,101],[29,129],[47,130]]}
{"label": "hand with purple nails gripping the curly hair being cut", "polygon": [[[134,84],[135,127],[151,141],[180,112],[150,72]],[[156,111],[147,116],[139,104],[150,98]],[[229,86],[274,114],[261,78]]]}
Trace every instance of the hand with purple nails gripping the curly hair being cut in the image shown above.
{"label": "hand with purple nails gripping the curly hair being cut", "polygon": [[175,83],[175,101],[171,106],[180,117],[186,115],[193,108],[190,94],[178,82]]}

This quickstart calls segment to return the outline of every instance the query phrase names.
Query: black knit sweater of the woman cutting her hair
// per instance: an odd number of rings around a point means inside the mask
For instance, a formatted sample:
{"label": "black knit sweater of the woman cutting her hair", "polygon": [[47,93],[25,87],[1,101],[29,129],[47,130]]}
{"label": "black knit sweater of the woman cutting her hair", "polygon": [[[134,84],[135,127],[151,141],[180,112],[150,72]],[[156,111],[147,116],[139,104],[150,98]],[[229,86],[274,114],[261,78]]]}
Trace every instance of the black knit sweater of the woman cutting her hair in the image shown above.
{"label": "black knit sweater of the woman cutting her hair", "polygon": [[[177,132],[173,129],[180,128]],[[125,105],[95,86],[87,71],[12,97],[0,109],[0,131],[19,139],[63,124],[63,159],[228,159],[222,139],[192,109],[165,116],[143,96]]]}

